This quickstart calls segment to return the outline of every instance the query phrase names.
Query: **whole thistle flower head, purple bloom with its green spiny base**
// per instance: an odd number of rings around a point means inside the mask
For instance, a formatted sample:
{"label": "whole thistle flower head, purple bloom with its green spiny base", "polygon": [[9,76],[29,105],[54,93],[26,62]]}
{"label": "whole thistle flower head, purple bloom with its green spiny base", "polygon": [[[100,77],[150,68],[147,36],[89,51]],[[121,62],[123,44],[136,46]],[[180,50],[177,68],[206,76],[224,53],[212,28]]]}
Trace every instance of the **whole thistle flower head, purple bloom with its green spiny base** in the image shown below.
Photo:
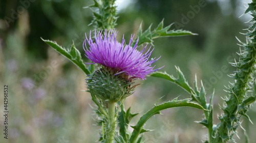
{"label": "whole thistle flower head, purple bloom with its green spiny base", "polygon": [[[133,36],[128,45],[116,41],[116,31],[105,30],[96,34],[95,42],[92,40],[91,33],[89,39],[86,37],[83,45],[86,47],[84,51],[86,56],[93,63],[101,64],[103,67],[88,75],[87,85],[91,94],[102,99],[103,101],[118,102],[127,96],[131,95],[136,87],[133,85],[134,78],[145,79],[147,74],[150,74],[158,69],[151,67],[155,58],[148,61],[153,50],[148,49],[145,53],[138,51],[137,43],[131,46]],[[90,48],[86,46],[89,43]]]}

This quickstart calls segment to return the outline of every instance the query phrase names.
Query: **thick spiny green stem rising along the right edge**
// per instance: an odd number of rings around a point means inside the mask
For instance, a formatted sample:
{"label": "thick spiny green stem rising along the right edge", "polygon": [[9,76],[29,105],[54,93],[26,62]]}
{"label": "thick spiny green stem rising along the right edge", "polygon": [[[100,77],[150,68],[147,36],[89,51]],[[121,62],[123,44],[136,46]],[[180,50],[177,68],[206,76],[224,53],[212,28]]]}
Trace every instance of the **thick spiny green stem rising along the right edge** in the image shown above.
{"label": "thick spiny green stem rising along the right edge", "polygon": [[232,74],[234,83],[232,87],[228,88],[228,97],[225,99],[226,105],[222,107],[224,113],[219,117],[221,122],[217,125],[217,132],[212,142],[227,142],[233,141],[232,135],[236,133],[237,127],[240,126],[240,118],[246,115],[249,104],[255,101],[255,95],[248,97],[247,92],[252,88],[253,79],[255,77],[255,63],[256,63],[256,3],[249,4],[247,12],[252,13],[252,25],[247,29],[247,42],[242,43],[243,48],[239,53],[240,59],[233,63],[237,67],[237,71]]}

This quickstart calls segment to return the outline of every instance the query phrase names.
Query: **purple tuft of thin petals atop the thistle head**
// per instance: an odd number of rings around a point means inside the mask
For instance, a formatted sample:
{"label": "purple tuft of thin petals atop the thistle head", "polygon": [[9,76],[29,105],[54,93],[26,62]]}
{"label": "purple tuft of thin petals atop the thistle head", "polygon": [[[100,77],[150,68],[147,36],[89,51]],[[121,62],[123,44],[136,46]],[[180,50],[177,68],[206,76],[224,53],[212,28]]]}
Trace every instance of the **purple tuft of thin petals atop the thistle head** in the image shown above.
{"label": "purple tuft of thin petals atop the thistle head", "polygon": [[[102,30],[103,31],[103,30]],[[145,79],[147,74],[150,74],[158,69],[154,69],[155,66],[151,66],[152,63],[156,62],[158,59],[153,58],[148,61],[152,51],[148,49],[145,53],[143,51],[146,49],[146,46],[142,51],[138,51],[138,40],[136,44],[132,47],[131,43],[133,37],[128,45],[124,45],[124,38],[122,38],[122,43],[116,41],[116,31],[107,31],[105,30],[104,35],[102,31],[96,34],[95,31],[95,41],[92,40],[91,32],[89,39],[86,36],[86,40],[83,42],[84,51],[86,56],[93,63],[99,63],[105,67],[109,67],[114,71],[117,71],[116,74],[125,73],[129,77],[137,77]],[[86,46],[86,42],[89,44],[89,48]],[[156,59],[156,60],[155,60]]]}

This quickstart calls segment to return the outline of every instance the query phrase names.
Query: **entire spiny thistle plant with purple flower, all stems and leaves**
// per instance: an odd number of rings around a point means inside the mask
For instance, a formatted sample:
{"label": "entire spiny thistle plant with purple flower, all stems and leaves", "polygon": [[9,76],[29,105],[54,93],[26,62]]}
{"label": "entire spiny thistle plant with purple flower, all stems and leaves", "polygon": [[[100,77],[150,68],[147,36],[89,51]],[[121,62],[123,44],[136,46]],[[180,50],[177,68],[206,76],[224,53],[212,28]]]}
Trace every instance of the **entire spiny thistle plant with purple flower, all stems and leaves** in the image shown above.
{"label": "entire spiny thistle plant with purple flower, all stems and leaves", "polygon": [[[185,35],[196,35],[185,30],[169,30],[172,24],[164,27],[161,21],[154,30],[148,27],[144,32],[140,26],[137,37],[131,36],[126,44],[124,36],[121,42],[118,42],[116,25],[116,5],[114,0],[94,0],[94,4],[86,7],[92,8],[95,24],[95,30],[86,34],[83,43],[84,57],[91,60],[91,63],[83,63],[82,56],[74,44],[70,49],[65,49],[57,43],[44,40],[47,44],[56,49],[59,53],[66,56],[71,62],[77,65],[84,73],[87,83],[87,92],[91,94],[92,101],[97,105],[98,125],[101,126],[100,142],[106,143],[140,143],[143,142],[143,133],[151,130],[144,128],[148,119],[154,115],[160,114],[161,110],[172,107],[194,107],[201,109],[204,113],[204,119],[197,121],[208,129],[208,138],[205,142],[228,142],[233,141],[233,134],[241,126],[241,117],[246,115],[249,106],[255,101],[255,63],[256,63],[256,45],[255,44],[255,21],[256,21],[256,3],[249,4],[247,12],[251,12],[253,19],[252,26],[246,33],[247,42],[240,44],[240,59],[232,63],[237,67],[237,71],[231,75],[234,82],[227,88],[227,96],[224,98],[225,104],[221,107],[223,113],[219,116],[220,123],[214,125],[213,98],[211,94],[207,103],[206,91],[203,87],[197,87],[197,78],[194,81],[194,88],[189,85],[184,74],[177,69],[177,77],[169,75],[166,72],[159,72],[163,68],[152,66],[158,59],[150,59],[154,48],[144,46],[141,51],[137,48],[144,43],[153,44],[153,39],[160,37],[174,37]],[[92,34],[94,33],[94,34]],[[93,35],[93,36],[92,36]],[[89,64],[89,66],[86,66]],[[153,107],[141,116],[139,121],[131,126],[131,119],[138,115],[132,113],[131,107],[124,108],[124,100],[136,92],[139,84],[135,80],[145,80],[147,76],[167,79],[184,89],[191,96],[186,99],[178,100],[175,98],[170,101],[158,104],[156,101]],[[250,90],[254,92],[249,94]],[[117,126],[119,130],[117,130]],[[128,127],[133,131],[127,131]]]}

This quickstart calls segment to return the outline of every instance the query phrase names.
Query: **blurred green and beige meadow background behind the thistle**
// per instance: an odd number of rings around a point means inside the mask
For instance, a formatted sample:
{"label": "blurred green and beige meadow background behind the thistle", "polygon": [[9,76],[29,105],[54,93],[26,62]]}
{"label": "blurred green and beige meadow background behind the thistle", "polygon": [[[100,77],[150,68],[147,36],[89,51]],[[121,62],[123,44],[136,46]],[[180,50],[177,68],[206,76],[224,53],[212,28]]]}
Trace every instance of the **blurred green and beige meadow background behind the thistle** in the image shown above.
{"label": "blurred green and beige meadow background behind the thistle", "polygon": [[[125,34],[129,40],[142,21],[145,30],[151,23],[156,27],[163,18],[165,26],[176,22],[172,28],[198,34],[156,39],[152,57],[162,56],[156,62],[156,67],[165,65],[160,71],[176,75],[175,65],[179,66],[191,84],[196,74],[199,81],[202,79],[207,95],[215,89],[214,115],[218,123],[221,97],[226,95],[224,85],[232,81],[227,74],[236,70],[229,64],[239,51],[236,37],[245,41],[240,33],[246,32],[243,29],[248,27],[249,23],[245,22],[250,15],[242,14],[250,1],[117,2],[119,39]],[[95,125],[97,117],[92,109],[95,105],[90,94],[81,91],[86,90],[86,75],[40,39],[57,41],[65,47],[70,47],[73,40],[83,55],[84,33],[94,26],[89,26],[92,11],[82,7],[90,4],[93,4],[91,0],[0,1],[0,142],[95,142],[98,139],[100,127]],[[87,61],[85,56],[83,59]],[[162,96],[162,101],[189,97],[164,79],[148,77],[138,82],[143,84],[125,103],[126,108],[132,106],[132,111],[140,112],[132,125]],[[9,87],[8,139],[3,134],[6,84]],[[255,112],[255,106],[248,112],[254,123]],[[155,130],[144,133],[145,142],[202,142],[207,138],[207,130],[194,122],[200,121],[202,114],[201,110],[187,107],[164,110],[163,115],[147,122],[146,128]],[[251,142],[256,140],[255,125],[247,119],[242,125]],[[244,131],[241,128],[238,131],[237,142],[245,142]]]}

